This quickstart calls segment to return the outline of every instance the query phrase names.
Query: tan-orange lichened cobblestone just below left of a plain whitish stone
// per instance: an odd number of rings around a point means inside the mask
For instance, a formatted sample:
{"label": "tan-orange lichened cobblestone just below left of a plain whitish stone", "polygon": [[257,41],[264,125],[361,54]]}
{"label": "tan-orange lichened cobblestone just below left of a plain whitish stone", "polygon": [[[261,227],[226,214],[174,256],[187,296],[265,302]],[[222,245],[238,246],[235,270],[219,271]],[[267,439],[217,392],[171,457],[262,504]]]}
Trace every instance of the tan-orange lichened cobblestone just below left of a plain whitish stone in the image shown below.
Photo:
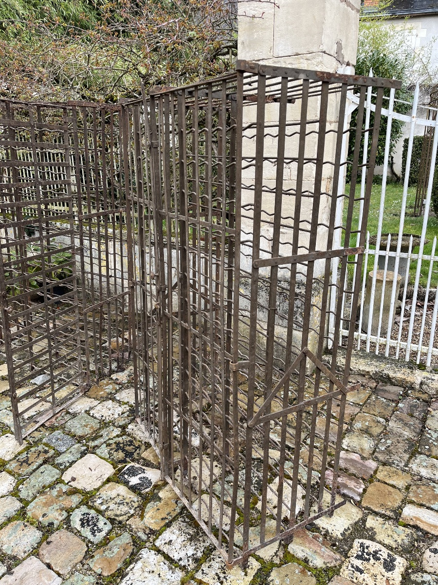
{"label": "tan-orange lichened cobblestone just below left of a plain whitish stone", "polygon": [[81,494],[75,494],[73,488],[58,483],[27,506],[27,515],[43,526],[58,528],[60,522],[67,518],[67,510],[77,507],[81,501]]}

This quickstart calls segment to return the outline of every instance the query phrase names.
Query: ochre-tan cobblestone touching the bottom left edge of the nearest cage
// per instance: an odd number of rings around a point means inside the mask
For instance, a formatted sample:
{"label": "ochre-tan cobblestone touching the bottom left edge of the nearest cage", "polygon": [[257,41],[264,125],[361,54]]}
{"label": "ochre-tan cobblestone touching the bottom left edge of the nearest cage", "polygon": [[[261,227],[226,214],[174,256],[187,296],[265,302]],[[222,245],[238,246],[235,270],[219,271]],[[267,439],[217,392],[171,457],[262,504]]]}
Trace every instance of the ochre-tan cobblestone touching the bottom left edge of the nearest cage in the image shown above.
{"label": "ochre-tan cobblestone touching the bottom left edge of the nearest cage", "polygon": [[142,519],[130,518],[127,524],[142,540],[147,540],[148,532],[161,529],[169,520],[182,510],[183,503],[172,487],[165,485],[154,493],[145,507]]}

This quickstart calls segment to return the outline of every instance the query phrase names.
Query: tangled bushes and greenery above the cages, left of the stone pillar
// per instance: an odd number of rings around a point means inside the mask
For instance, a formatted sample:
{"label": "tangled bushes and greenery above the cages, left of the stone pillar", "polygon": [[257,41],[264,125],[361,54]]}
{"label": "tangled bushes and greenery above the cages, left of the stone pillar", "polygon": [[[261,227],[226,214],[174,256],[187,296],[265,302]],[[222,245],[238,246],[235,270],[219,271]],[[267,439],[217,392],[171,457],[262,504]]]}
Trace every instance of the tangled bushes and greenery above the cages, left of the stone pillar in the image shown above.
{"label": "tangled bushes and greenery above the cages, left of the stone pillar", "polygon": [[232,66],[231,0],[4,0],[0,94],[117,101]]}

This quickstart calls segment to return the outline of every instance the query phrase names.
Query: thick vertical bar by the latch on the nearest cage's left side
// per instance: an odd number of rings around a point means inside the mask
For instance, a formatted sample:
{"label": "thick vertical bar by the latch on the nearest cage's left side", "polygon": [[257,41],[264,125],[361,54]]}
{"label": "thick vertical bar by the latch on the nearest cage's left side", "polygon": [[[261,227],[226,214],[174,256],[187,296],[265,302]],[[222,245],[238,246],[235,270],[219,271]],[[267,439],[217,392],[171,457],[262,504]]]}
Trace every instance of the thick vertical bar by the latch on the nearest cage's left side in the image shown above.
{"label": "thick vertical bar by the latch on the nearest cage's left side", "polygon": [[[159,152],[158,152],[158,130],[159,130],[159,123],[158,123],[158,111],[157,111],[157,102],[156,99],[151,96],[150,97],[150,112],[151,112],[151,120],[150,120],[150,130],[151,130],[151,191],[152,191],[152,198],[154,201],[154,210],[155,209],[162,209],[162,185],[161,185],[161,171],[160,171],[160,162],[159,162]],[[165,475],[165,466],[166,460],[164,459],[164,452],[163,446],[166,441],[168,441],[167,433],[168,429],[164,428],[164,422],[166,421],[167,417],[164,412],[164,409],[167,408],[167,404],[164,400],[164,397],[168,395],[168,380],[166,378],[166,371],[168,366],[168,355],[167,355],[167,335],[168,335],[168,322],[166,321],[163,324],[162,321],[162,309],[165,307],[166,304],[166,279],[165,279],[165,271],[164,271],[164,249],[159,243],[163,242],[163,225],[161,219],[157,218],[154,214],[154,231],[157,235],[157,242],[155,243],[155,268],[157,270],[155,274],[155,279],[157,283],[157,301],[159,304],[159,322],[161,326],[158,327],[157,330],[157,364],[158,364],[158,421],[159,421],[159,429],[158,429],[158,441],[159,441],[159,449],[161,454],[161,474],[162,477]],[[171,332],[169,332],[169,335]],[[155,412],[155,409],[154,409]],[[154,433],[155,434],[155,433]]]}

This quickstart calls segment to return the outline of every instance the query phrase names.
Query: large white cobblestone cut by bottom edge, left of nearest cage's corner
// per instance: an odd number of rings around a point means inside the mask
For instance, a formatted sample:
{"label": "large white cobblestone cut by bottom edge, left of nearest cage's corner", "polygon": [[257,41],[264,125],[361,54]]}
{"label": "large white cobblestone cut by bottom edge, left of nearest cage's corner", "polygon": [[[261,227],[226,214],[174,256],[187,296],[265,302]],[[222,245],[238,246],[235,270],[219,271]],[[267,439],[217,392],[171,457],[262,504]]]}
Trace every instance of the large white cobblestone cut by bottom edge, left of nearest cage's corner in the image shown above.
{"label": "large white cobblestone cut by bottom edge, left of nearest cage's corner", "polygon": [[120,585],[180,585],[184,573],[155,550],[144,548],[128,567]]}

